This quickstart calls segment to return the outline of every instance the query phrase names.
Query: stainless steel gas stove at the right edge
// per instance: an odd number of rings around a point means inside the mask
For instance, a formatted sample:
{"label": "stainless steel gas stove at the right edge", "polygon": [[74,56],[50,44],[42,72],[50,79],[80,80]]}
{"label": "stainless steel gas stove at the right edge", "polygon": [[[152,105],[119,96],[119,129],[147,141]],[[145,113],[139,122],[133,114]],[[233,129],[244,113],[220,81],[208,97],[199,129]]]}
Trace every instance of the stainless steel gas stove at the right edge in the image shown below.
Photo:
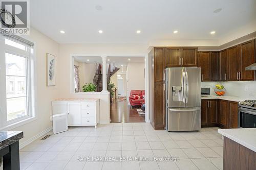
{"label": "stainless steel gas stove at the right edge", "polygon": [[238,127],[256,128],[256,100],[238,103]]}

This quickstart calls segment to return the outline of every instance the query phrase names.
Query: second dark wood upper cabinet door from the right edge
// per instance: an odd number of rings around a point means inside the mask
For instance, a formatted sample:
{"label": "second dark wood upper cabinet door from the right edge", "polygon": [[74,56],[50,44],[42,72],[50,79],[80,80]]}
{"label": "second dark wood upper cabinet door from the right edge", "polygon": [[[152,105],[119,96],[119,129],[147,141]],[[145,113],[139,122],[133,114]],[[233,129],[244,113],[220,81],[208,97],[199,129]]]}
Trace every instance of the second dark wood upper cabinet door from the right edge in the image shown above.
{"label": "second dark wood upper cabinet door from the right edge", "polygon": [[229,81],[239,81],[240,72],[240,46],[228,48]]}

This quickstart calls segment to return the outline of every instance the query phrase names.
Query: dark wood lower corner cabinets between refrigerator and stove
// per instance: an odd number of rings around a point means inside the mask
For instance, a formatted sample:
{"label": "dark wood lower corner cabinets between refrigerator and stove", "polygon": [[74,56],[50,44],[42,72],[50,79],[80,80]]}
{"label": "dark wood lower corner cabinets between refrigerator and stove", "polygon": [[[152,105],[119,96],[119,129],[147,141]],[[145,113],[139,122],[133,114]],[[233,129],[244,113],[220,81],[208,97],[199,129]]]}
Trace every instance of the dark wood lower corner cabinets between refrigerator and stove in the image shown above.
{"label": "dark wood lower corner cabinets between refrigerator and stove", "polygon": [[202,100],[201,126],[238,128],[238,103],[226,100]]}

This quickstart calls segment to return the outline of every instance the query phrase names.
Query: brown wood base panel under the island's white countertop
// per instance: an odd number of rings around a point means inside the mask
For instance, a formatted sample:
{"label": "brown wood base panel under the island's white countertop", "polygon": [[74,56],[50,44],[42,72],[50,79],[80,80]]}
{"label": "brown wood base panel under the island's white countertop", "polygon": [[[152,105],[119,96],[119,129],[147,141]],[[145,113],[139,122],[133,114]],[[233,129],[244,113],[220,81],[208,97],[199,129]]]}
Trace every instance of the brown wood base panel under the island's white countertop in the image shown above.
{"label": "brown wood base panel under the island's white countertop", "polygon": [[256,153],[224,136],[223,170],[255,170]]}

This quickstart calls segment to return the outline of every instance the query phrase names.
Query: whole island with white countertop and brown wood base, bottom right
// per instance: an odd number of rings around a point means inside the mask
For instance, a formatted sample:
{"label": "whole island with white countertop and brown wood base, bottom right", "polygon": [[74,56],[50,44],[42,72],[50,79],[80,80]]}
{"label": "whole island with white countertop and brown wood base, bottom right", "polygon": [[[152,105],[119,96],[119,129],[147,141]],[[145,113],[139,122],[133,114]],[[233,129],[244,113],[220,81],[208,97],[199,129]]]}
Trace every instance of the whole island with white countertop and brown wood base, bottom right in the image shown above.
{"label": "whole island with white countertop and brown wood base, bottom right", "polygon": [[223,169],[256,169],[256,128],[219,129],[224,136]]}

